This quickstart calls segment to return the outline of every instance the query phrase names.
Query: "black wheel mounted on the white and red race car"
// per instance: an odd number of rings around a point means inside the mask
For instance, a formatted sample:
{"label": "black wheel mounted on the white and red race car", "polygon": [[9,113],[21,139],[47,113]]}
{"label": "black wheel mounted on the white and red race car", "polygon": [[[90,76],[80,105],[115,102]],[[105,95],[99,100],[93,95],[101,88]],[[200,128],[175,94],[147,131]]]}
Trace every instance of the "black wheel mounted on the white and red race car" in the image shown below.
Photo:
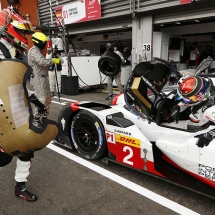
{"label": "black wheel mounted on the white and red race car", "polygon": [[88,111],[81,110],[73,117],[71,138],[78,153],[89,160],[104,157],[107,152],[103,125]]}

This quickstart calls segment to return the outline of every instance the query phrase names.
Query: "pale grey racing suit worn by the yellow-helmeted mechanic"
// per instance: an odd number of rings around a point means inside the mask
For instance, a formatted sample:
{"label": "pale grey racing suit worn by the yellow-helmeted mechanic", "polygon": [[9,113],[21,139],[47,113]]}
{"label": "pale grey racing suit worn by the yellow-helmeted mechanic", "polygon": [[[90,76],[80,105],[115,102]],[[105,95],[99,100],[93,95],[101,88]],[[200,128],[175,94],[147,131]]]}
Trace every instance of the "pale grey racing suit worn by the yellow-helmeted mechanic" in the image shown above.
{"label": "pale grey racing suit worn by the yellow-helmeted mechanic", "polygon": [[[33,86],[35,96],[45,105],[48,115],[51,104],[48,67],[53,64],[53,61],[52,59],[45,59],[41,50],[33,46],[28,51],[28,64],[33,69],[33,76],[31,77],[30,83]],[[34,113],[35,116],[38,115],[37,109],[35,109]]]}

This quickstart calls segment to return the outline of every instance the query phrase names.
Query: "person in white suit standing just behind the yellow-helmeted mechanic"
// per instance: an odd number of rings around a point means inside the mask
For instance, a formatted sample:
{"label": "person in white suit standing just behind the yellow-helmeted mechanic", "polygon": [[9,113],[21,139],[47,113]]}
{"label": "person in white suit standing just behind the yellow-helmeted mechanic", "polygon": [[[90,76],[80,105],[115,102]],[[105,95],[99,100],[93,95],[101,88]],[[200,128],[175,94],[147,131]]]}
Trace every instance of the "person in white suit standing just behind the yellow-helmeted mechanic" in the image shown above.
{"label": "person in white suit standing just behind the yellow-helmeted mechanic", "polygon": [[[52,53],[50,53],[50,54],[52,54]],[[50,54],[47,53],[46,59],[50,58],[49,57]],[[52,55],[52,57],[60,59],[59,64],[57,64],[57,65],[52,64],[48,69],[51,97],[54,97],[56,89],[57,89],[57,91],[56,91],[57,93],[58,92],[61,93],[61,71],[62,71],[62,64],[64,63],[64,60],[61,57],[61,53],[60,53],[60,51],[58,51],[57,45],[53,46],[53,55]],[[57,70],[56,74],[57,74],[57,83],[58,84],[56,84],[55,70]]]}

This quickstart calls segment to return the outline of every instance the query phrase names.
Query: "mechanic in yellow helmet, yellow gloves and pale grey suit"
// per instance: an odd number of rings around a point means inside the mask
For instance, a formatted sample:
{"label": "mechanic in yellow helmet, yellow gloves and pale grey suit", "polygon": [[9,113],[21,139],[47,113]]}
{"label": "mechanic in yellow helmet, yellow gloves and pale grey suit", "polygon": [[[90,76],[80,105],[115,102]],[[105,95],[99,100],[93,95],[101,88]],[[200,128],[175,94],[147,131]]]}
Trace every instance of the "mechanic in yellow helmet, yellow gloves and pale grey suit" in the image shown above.
{"label": "mechanic in yellow helmet, yellow gloves and pale grey suit", "polygon": [[[53,63],[60,64],[60,59],[51,58],[45,59],[42,55],[42,50],[46,47],[47,37],[41,32],[36,32],[32,35],[34,46],[28,51],[28,64],[33,69],[33,76],[30,83],[33,86],[36,97],[46,107],[47,115],[51,104],[50,85],[48,80],[48,68]],[[40,114],[35,110],[35,119],[40,124]]]}

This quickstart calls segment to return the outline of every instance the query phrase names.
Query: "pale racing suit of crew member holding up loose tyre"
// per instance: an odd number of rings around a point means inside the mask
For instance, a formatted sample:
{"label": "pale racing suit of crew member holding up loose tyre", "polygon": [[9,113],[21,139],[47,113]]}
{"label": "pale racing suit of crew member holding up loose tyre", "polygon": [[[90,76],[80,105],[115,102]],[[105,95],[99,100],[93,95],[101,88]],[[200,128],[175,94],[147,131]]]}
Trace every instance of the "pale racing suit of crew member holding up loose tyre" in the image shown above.
{"label": "pale racing suit of crew member holding up loose tyre", "polygon": [[[122,56],[120,51],[115,51],[116,54],[118,54],[122,60],[122,64],[124,64],[125,59]],[[121,84],[121,71],[115,75],[115,76],[107,76],[107,85],[108,85],[108,93],[109,95],[113,95],[113,80],[115,79],[115,82],[117,84],[117,87],[120,91],[120,93],[123,93],[123,86]]]}

